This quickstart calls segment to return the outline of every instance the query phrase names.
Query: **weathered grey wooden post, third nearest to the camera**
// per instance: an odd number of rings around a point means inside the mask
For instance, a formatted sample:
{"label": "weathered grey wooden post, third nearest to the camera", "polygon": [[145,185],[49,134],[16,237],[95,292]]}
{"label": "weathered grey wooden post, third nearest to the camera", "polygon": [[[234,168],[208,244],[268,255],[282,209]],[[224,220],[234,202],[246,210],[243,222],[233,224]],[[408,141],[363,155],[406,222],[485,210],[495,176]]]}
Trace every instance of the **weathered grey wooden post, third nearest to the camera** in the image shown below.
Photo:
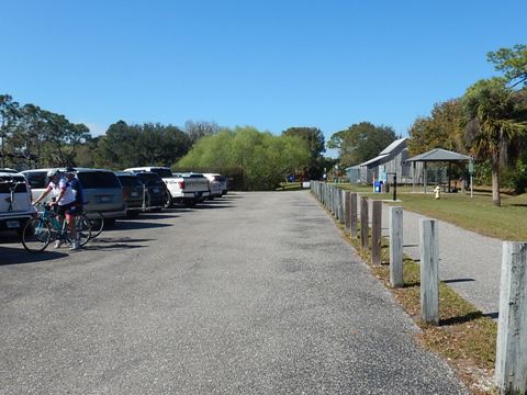
{"label": "weathered grey wooden post, third nearest to the camera", "polygon": [[403,281],[403,207],[389,208],[390,222],[390,284],[404,285]]}

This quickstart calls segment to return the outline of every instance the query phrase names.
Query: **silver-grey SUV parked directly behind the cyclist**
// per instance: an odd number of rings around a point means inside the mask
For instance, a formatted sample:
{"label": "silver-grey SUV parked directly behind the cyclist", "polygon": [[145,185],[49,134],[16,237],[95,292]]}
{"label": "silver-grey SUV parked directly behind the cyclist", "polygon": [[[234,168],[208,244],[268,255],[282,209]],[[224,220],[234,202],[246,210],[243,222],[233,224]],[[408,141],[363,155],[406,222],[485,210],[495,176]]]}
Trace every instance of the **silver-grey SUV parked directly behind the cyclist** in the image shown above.
{"label": "silver-grey SUV parked directly behind the cyclist", "polygon": [[[25,170],[22,173],[31,185],[33,200],[38,198],[47,187],[49,169]],[[126,216],[123,188],[113,171],[105,169],[75,168],[77,179],[82,185],[85,212],[100,212],[105,225],[113,225],[115,219]],[[47,195],[49,200],[52,196]]]}

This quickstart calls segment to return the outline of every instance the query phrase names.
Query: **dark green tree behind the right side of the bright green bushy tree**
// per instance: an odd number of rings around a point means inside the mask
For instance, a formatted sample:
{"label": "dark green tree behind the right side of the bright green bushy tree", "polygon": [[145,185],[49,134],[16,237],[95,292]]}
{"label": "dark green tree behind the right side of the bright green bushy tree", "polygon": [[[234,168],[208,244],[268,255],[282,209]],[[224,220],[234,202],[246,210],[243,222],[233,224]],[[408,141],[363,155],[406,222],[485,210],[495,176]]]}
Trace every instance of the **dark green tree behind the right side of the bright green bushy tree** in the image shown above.
{"label": "dark green tree behind the right side of the bright green bushy tree", "polygon": [[311,180],[322,178],[324,172],[324,157],[326,150],[324,134],[317,127],[290,127],[282,132],[284,136],[300,137],[307,143],[310,148],[310,163],[306,166],[305,176]]}

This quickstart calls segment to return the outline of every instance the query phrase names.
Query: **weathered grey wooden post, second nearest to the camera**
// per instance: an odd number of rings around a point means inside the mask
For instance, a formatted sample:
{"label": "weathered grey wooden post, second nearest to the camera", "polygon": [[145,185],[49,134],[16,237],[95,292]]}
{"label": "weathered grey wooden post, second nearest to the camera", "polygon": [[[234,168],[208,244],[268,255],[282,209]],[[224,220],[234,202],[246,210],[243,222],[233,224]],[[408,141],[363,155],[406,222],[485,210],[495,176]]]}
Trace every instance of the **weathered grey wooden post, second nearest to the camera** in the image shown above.
{"label": "weathered grey wooden post, second nearest to the camera", "polygon": [[439,325],[439,235],[435,219],[419,221],[421,317]]}

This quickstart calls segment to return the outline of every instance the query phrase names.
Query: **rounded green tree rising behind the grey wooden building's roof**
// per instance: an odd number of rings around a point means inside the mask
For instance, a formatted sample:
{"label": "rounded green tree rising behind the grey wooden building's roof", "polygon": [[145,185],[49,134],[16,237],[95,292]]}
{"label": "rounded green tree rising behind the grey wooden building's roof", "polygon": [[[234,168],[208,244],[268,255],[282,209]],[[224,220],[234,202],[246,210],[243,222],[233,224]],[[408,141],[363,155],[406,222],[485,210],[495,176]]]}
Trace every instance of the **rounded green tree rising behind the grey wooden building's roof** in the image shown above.
{"label": "rounded green tree rising behind the grey wooden building's roof", "polygon": [[327,147],[338,149],[341,166],[355,166],[374,158],[396,138],[391,126],[361,122],[333,134]]}

